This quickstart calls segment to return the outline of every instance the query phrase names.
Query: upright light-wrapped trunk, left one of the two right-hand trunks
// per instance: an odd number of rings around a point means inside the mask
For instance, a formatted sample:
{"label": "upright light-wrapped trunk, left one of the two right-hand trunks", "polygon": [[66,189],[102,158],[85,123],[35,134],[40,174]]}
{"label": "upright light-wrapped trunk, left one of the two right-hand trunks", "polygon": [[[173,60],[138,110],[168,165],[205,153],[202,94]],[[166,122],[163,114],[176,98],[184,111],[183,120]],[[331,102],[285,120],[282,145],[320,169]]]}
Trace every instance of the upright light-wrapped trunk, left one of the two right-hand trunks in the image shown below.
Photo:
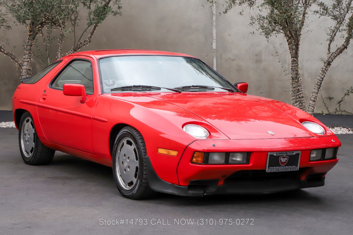
{"label": "upright light-wrapped trunk, left one of the two right-hand trunks", "polygon": [[292,105],[305,111],[305,98],[299,73],[299,50],[289,40],[288,49],[291,54]]}

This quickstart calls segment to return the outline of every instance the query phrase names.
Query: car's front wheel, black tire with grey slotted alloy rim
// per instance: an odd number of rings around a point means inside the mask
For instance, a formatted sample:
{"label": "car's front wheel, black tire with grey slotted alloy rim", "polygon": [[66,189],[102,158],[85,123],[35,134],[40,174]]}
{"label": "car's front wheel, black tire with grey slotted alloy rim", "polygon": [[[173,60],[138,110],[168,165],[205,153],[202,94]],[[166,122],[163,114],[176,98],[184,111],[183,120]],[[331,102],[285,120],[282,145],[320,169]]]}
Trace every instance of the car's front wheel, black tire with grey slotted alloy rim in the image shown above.
{"label": "car's front wheel, black tire with grey slotted alloy rim", "polygon": [[141,133],[131,126],[123,128],[113,148],[113,175],[122,196],[145,199],[156,193],[148,185],[146,155]]}

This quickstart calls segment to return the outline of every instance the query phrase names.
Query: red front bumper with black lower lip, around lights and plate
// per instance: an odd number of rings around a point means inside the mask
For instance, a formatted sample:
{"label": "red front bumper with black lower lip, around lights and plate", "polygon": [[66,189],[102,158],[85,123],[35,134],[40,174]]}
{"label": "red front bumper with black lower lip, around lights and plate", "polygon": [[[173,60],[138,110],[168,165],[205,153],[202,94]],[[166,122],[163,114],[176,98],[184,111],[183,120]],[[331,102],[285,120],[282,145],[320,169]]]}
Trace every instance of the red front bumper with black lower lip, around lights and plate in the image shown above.
{"label": "red front bumper with black lower lip, around lights and plate", "polygon": [[[338,159],[310,162],[310,151],[341,146],[336,136],[262,139],[262,140],[198,140],[185,149],[177,173],[179,185],[158,177],[149,157],[148,179],[155,191],[184,196],[227,193],[270,193],[324,185],[325,175]],[[251,152],[245,165],[198,165],[191,163],[195,151]],[[299,170],[266,172],[269,152],[301,151]]]}

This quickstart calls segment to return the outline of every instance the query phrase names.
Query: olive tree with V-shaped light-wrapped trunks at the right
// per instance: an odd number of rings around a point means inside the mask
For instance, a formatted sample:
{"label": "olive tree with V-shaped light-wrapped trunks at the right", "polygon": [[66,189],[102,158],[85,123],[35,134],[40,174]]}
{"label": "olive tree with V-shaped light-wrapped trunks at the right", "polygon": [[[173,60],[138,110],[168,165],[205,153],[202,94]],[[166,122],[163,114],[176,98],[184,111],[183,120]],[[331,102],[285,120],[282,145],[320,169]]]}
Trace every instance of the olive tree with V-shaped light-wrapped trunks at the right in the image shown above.
{"label": "olive tree with V-shaped light-wrapped trunks at the right", "polygon": [[[207,0],[213,3],[215,0]],[[273,35],[282,35],[288,44],[291,61],[292,105],[312,114],[315,111],[317,96],[322,87],[327,70],[332,62],[347,49],[352,39],[353,8],[352,0],[225,0],[223,13],[235,6],[243,6],[250,12],[250,25],[257,26],[261,35],[269,39]],[[252,12],[252,13],[251,13]],[[300,39],[309,14],[329,17],[334,26],[329,27],[328,49],[324,64],[320,70],[310,101],[306,104],[299,69]],[[343,42],[332,50],[331,44],[341,34]]]}

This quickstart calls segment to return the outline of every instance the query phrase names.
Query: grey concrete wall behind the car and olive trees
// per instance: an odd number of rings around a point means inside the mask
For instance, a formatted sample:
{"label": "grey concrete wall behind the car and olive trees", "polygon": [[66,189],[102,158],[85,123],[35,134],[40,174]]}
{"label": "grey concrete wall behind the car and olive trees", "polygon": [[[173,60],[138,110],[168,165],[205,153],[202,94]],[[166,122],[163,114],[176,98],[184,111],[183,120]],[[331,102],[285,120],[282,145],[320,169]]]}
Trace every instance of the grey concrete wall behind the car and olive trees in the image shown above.
{"label": "grey concrete wall behind the car and olive trees", "polygon": [[[94,34],[92,42],[83,50],[95,49],[153,49],[182,52],[201,58],[213,65],[212,11],[202,7],[204,0],[122,0],[122,16],[108,17]],[[289,54],[282,36],[273,37],[270,43],[261,36],[250,34],[255,28],[249,26],[249,17],[239,16],[239,9],[228,14],[221,12],[223,0],[217,0],[217,71],[231,82],[249,82],[249,94],[291,103],[289,81]],[[301,76],[306,99],[309,100],[315,79],[326,55],[326,31],[328,19],[311,17],[307,21],[308,31],[301,41]],[[84,26],[84,17],[82,20]],[[88,33],[87,33],[88,35]],[[8,33],[11,43],[22,45],[26,37],[24,27],[18,26]],[[4,44],[1,32],[0,43]],[[341,38],[333,43],[340,44]],[[64,41],[64,51],[72,46],[72,38]],[[351,46],[353,47],[353,46]],[[18,57],[23,49],[15,50]],[[276,56],[278,51],[279,56]],[[22,54],[21,54],[22,53]],[[327,113],[321,95],[329,110],[334,111],[345,91],[353,86],[353,49],[348,50],[334,61],[324,81],[317,103],[316,112]],[[35,61],[34,61],[35,62]],[[41,70],[34,64],[34,73]],[[6,56],[0,56],[0,110],[11,110],[12,93],[19,84],[20,69]],[[283,72],[287,70],[286,72]],[[353,96],[342,102],[342,109],[353,112]]]}

